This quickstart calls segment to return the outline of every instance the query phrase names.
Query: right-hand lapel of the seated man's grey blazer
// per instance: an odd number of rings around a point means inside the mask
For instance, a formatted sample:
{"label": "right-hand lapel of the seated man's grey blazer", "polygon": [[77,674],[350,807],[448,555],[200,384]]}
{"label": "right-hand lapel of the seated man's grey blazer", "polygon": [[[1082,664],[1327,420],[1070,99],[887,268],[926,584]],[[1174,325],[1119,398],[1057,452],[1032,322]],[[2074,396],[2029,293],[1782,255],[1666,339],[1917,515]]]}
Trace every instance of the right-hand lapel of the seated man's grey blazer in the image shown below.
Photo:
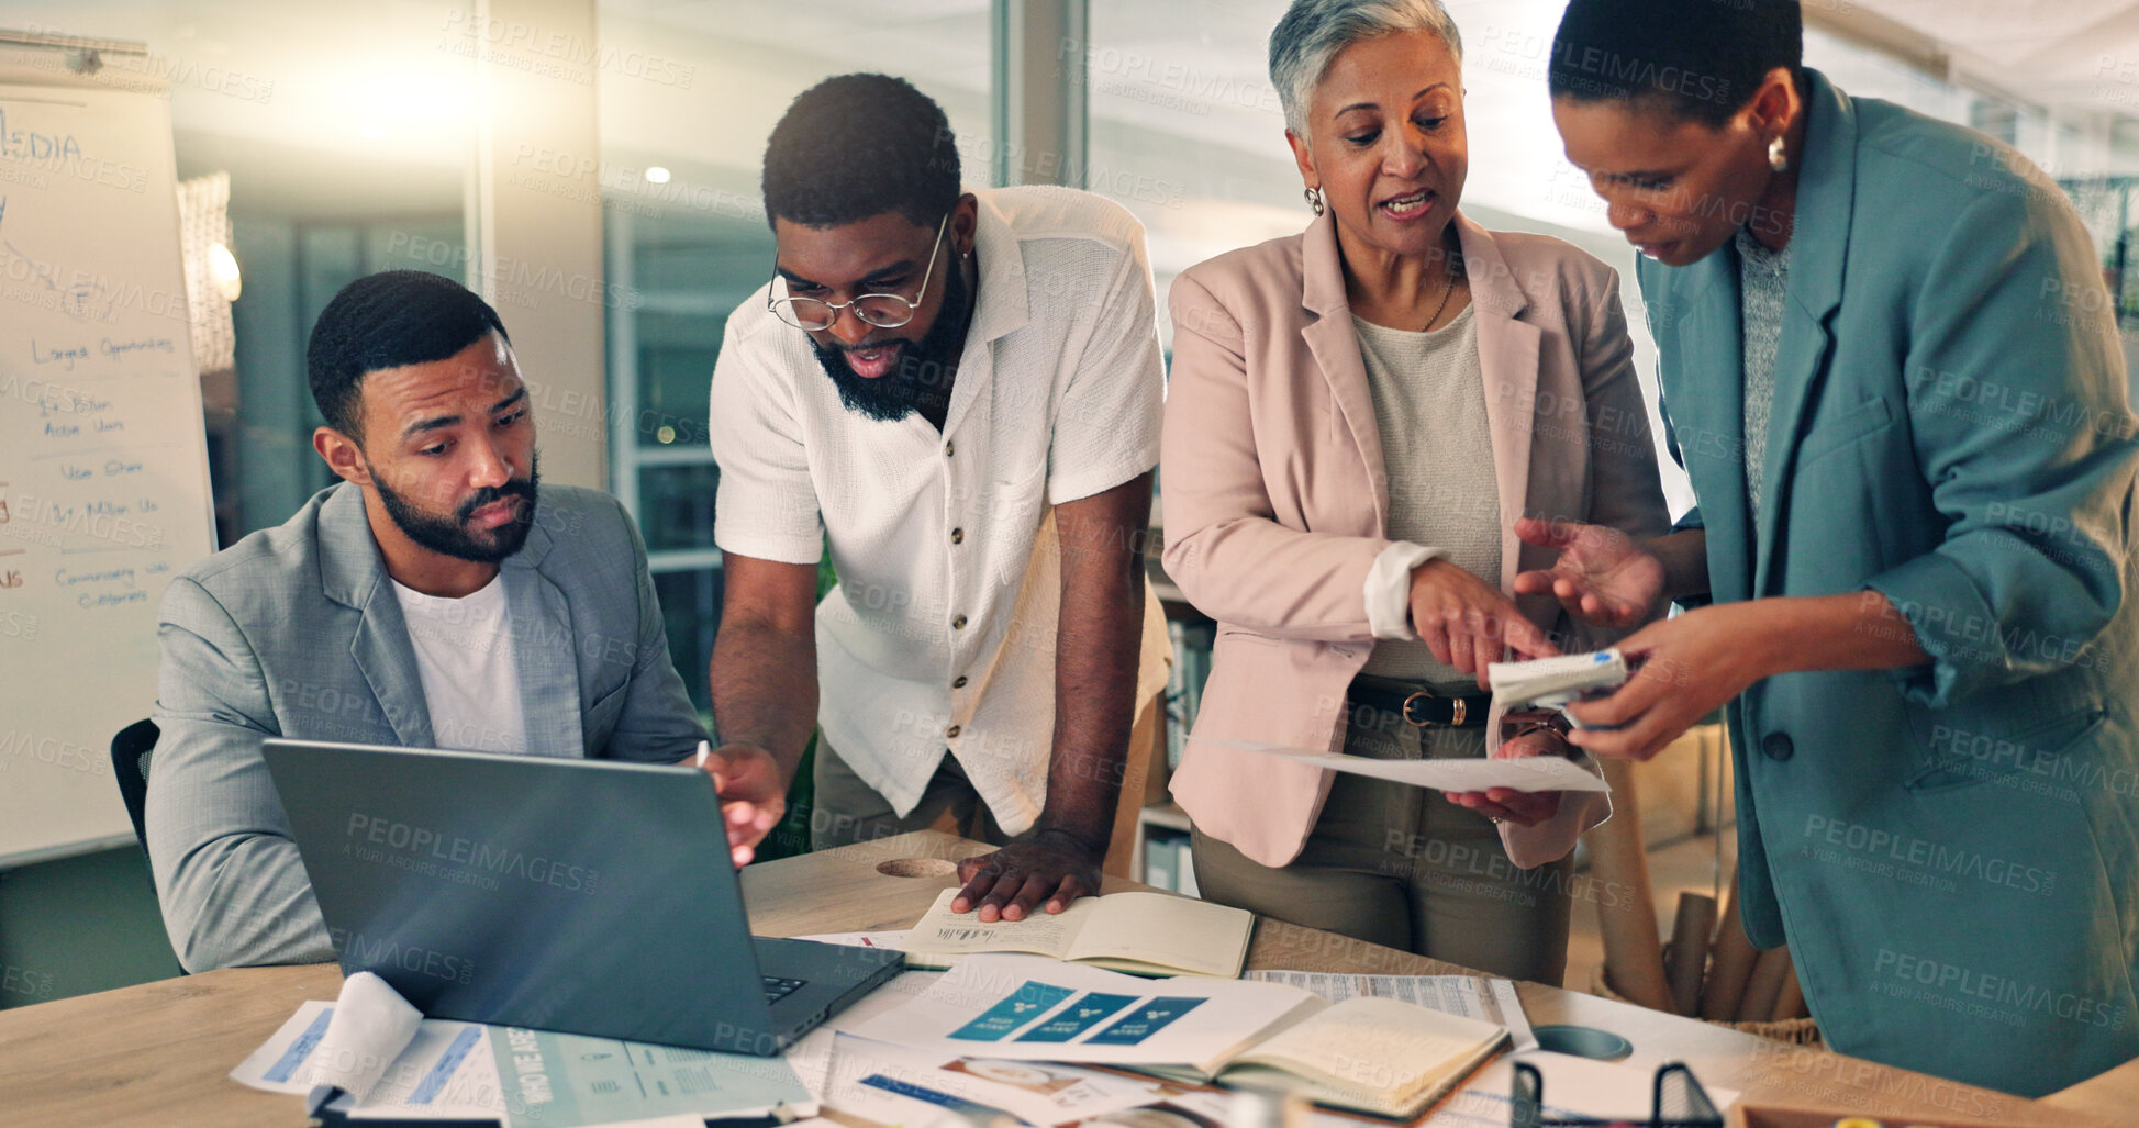
{"label": "right-hand lapel of the seated man's grey blazer", "polygon": [[571,631],[565,593],[541,574],[550,554],[550,533],[537,520],[528,542],[505,561],[505,604],[513,614],[513,666],[520,676],[520,708],[526,715],[528,751],[535,756],[584,758],[580,726],[580,646]]}

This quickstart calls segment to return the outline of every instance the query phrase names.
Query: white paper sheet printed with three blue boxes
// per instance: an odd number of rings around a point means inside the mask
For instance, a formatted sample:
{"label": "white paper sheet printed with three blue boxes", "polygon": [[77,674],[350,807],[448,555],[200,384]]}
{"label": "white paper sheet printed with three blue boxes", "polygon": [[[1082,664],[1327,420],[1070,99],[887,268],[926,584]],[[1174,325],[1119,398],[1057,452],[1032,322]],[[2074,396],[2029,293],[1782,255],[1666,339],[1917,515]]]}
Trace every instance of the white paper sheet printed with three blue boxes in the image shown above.
{"label": "white paper sheet printed with three blue boxes", "polygon": [[845,1030],[954,1057],[1204,1066],[1322,1006],[1277,982],[1151,980],[1044,957],[973,955],[911,1002]]}

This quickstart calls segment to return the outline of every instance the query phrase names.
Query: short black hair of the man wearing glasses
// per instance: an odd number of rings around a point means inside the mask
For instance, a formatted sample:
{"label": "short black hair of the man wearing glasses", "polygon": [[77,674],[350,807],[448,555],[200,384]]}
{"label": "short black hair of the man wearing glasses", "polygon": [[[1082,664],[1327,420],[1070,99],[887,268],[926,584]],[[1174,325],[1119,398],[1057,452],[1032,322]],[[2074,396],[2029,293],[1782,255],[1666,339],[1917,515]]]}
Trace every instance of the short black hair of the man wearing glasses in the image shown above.
{"label": "short black hair of the man wearing glasses", "polygon": [[804,227],[898,212],[935,227],[958,203],[958,139],[943,107],[890,75],[804,90],[766,141],[766,223]]}

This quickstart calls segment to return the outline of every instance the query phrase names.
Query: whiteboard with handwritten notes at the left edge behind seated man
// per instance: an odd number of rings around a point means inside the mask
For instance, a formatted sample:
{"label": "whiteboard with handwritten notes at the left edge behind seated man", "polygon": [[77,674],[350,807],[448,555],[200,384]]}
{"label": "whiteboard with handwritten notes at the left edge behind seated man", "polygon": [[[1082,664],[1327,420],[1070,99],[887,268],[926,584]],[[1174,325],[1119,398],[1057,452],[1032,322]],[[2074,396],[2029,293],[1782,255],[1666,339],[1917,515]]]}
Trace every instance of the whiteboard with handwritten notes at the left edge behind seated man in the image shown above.
{"label": "whiteboard with handwritten notes at the left edge behind seated man", "polygon": [[133,839],[111,734],[214,552],[169,101],[0,49],[0,865]]}

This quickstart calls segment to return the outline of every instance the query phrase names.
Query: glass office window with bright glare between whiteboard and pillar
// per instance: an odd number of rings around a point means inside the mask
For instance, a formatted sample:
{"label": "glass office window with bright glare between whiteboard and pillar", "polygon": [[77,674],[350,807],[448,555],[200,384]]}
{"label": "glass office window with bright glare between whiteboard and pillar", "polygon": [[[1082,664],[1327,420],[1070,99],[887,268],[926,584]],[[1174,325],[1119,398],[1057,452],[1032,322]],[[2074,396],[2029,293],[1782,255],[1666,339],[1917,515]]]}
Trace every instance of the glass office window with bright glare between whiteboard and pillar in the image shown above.
{"label": "glass office window with bright glare between whiteboard and pillar", "polygon": [[[225,542],[280,524],[329,482],[304,342],[334,289],[409,265],[464,278],[475,62],[436,49],[468,4],[15,0],[13,30],[148,43],[113,56],[165,83],[178,176],[231,173],[235,375],[207,372]],[[231,402],[220,405],[218,394]]]}

